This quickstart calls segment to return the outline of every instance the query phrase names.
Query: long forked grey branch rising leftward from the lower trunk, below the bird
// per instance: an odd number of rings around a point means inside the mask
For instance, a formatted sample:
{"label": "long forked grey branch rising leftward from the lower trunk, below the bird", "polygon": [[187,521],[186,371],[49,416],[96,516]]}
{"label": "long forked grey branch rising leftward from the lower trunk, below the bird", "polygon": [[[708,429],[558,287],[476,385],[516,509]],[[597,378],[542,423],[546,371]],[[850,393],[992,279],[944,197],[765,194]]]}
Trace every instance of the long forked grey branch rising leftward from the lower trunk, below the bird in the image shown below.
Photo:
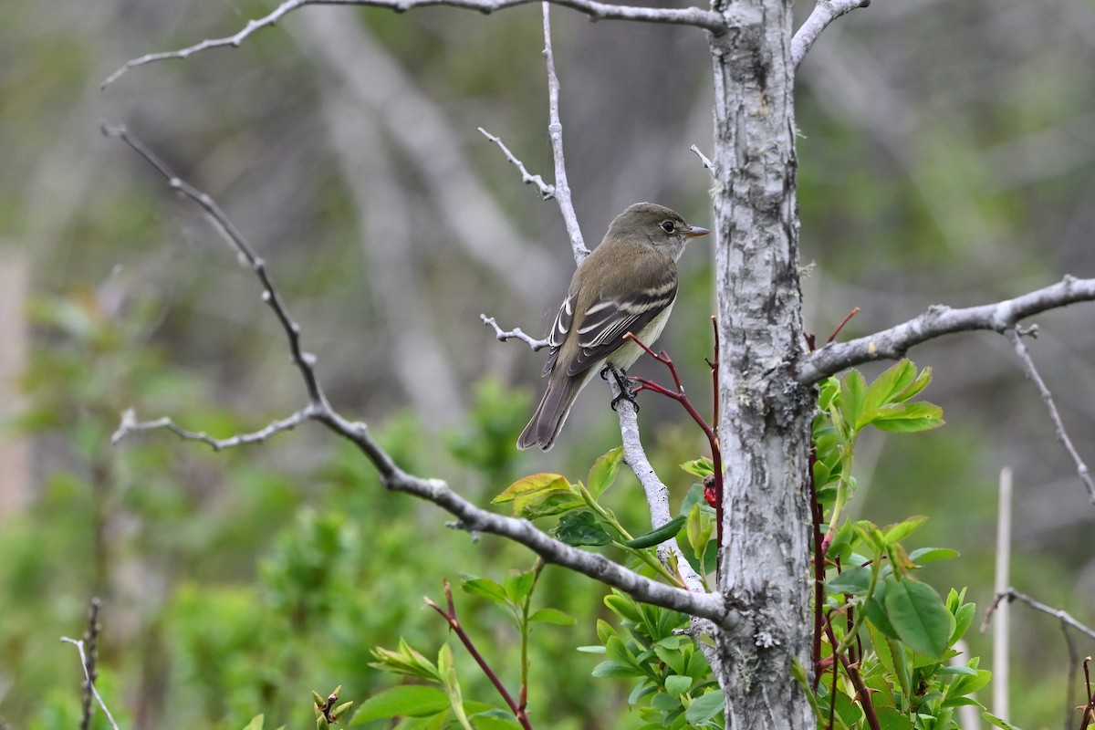
{"label": "long forked grey branch rising leftward from the lower trunk, below the bird", "polygon": [[[300,349],[300,326],[291,318],[285,308],[276,287],[266,273],[266,268],[261,258],[257,258],[246,244],[243,236],[235,230],[231,221],[208,195],[197,190],[189,184],[183,182],[155,157],[140,140],[136,139],[124,127],[114,127],[105,130],[112,137],[118,137],[130,148],[137,151],[142,158],[151,163],[168,181],[171,187],[181,190],[188,198],[200,205],[212,216],[214,220],[229,234],[230,241],[237,246],[241,256],[250,264],[252,270],[258,277],[263,288],[263,299],[269,303],[274,310],[281,328],[285,331],[289,349],[292,352],[292,361],[300,370],[304,381],[306,390],[309,394],[309,405],[304,409],[289,416],[281,421],[275,421],[266,429],[256,431],[254,434],[233,437],[241,443],[247,438],[258,440],[257,434],[269,436],[279,430],[285,430],[302,421],[304,418],[319,421],[331,431],[351,441],[362,454],[376,467],[380,475],[381,483],[389,489],[404,491],[422,499],[429,500],[447,510],[459,519],[459,526],[469,532],[485,532],[508,537],[518,542],[548,563],[554,563],[563,567],[581,572],[595,580],[599,580],[607,586],[619,588],[633,595],[636,600],[652,603],[676,611],[682,611],[693,616],[711,618],[715,623],[722,623],[726,617],[726,610],[722,598],[707,593],[690,592],[683,589],[673,588],[665,583],[650,580],[629,570],[608,558],[595,553],[586,553],[576,547],[570,547],[548,534],[538,530],[528,520],[503,517],[480,509],[470,501],[456,494],[448,484],[440,479],[427,479],[412,474],[407,474],[399,467],[391,455],[384,451],[369,433],[368,427],[359,421],[349,421],[341,416],[324,396],[323,389],[314,370],[315,358],[304,354]],[[142,425],[137,421],[136,416],[127,413],[123,416],[123,422],[118,431],[124,436],[128,431],[140,430]],[[165,428],[183,438],[203,441],[214,449],[224,448],[232,439],[220,441],[204,433],[187,431],[176,426],[171,419],[159,419],[145,425],[146,430],[151,428]],[[117,433],[115,436],[118,436]],[[120,437],[118,437],[120,438]],[[81,648],[82,653],[82,648]],[[105,709],[105,708],[104,708]]]}

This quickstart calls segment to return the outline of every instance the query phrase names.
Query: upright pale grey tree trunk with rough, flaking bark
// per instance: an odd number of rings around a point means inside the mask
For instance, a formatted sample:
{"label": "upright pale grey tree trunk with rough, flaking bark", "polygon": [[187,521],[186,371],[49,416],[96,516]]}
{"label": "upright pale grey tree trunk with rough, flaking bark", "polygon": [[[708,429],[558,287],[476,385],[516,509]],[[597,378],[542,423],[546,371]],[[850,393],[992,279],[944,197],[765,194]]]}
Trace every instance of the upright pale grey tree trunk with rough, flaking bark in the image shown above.
{"label": "upright pale grey tree trunk with rough, flaking bark", "polygon": [[793,378],[805,340],[791,10],[787,0],[739,0],[736,13],[751,22],[711,37],[724,383],[719,586],[741,617],[716,641],[726,727],[738,730],[815,722],[792,679],[794,659],[810,667],[806,477],[814,398]]}

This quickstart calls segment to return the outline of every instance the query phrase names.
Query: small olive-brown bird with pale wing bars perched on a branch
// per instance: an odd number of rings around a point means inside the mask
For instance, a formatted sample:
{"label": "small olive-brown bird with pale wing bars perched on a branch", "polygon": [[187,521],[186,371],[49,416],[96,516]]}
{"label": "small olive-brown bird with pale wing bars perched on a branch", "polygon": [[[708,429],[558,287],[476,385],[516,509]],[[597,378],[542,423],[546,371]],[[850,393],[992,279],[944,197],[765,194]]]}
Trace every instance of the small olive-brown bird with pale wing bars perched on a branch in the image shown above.
{"label": "small olive-brown bird with pale wing bars perched on a branch", "polygon": [[595,373],[624,370],[666,325],[677,299],[677,259],[689,239],[710,233],[653,202],[616,216],[600,245],[578,265],[548,335],[548,390],[525,427],[518,449],[548,451],[578,392]]}

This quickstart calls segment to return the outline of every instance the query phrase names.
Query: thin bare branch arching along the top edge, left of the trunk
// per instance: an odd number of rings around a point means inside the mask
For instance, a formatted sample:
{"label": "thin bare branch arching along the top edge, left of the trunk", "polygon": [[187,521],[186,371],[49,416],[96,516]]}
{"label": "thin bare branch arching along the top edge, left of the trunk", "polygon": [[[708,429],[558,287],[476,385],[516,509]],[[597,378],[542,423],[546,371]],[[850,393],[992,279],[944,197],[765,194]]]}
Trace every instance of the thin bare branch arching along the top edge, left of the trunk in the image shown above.
{"label": "thin bare branch arching along the top edge, left of the trunk", "polygon": [[[139,58],[126,61],[119,69],[108,76],[103,81],[101,88],[105,89],[117,81],[118,77],[131,68],[162,61],[172,58],[189,58],[194,54],[210,48],[239,48],[243,40],[255,31],[277,24],[289,13],[299,10],[304,5],[369,5],[374,8],[388,8],[402,13],[415,8],[427,8],[430,5],[447,5],[449,8],[463,8],[466,10],[477,10],[482,13],[493,13],[496,10],[523,5],[533,0],[286,0],[266,15],[247,21],[234,35],[223,38],[207,38],[201,43],[158,54],[147,54]],[[723,14],[700,8],[633,8],[630,5],[613,5],[596,0],[551,0],[552,2],[577,10],[585,13],[590,20],[623,20],[639,21],[644,23],[667,23],[670,25],[693,25],[695,27],[721,34],[728,31],[733,23]]]}

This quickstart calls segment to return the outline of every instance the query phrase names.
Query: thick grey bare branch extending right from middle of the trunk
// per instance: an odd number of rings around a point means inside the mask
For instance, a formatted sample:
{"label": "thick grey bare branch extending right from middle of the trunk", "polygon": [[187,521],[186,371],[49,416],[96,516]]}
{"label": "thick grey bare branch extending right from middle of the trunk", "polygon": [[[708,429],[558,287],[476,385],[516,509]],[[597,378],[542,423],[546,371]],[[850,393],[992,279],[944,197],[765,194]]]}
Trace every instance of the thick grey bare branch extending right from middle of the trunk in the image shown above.
{"label": "thick grey bare branch extending right from middle of the trunk", "polygon": [[1044,289],[994,304],[952,309],[934,304],[918,317],[896,327],[848,343],[832,343],[807,356],[795,379],[812,385],[829,375],[873,360],[897,360],[913,345],[956,332],[991,329],[1001,334],[1030,315],[1076,302],[1095,301],[1095,279],[1072,276]]}

